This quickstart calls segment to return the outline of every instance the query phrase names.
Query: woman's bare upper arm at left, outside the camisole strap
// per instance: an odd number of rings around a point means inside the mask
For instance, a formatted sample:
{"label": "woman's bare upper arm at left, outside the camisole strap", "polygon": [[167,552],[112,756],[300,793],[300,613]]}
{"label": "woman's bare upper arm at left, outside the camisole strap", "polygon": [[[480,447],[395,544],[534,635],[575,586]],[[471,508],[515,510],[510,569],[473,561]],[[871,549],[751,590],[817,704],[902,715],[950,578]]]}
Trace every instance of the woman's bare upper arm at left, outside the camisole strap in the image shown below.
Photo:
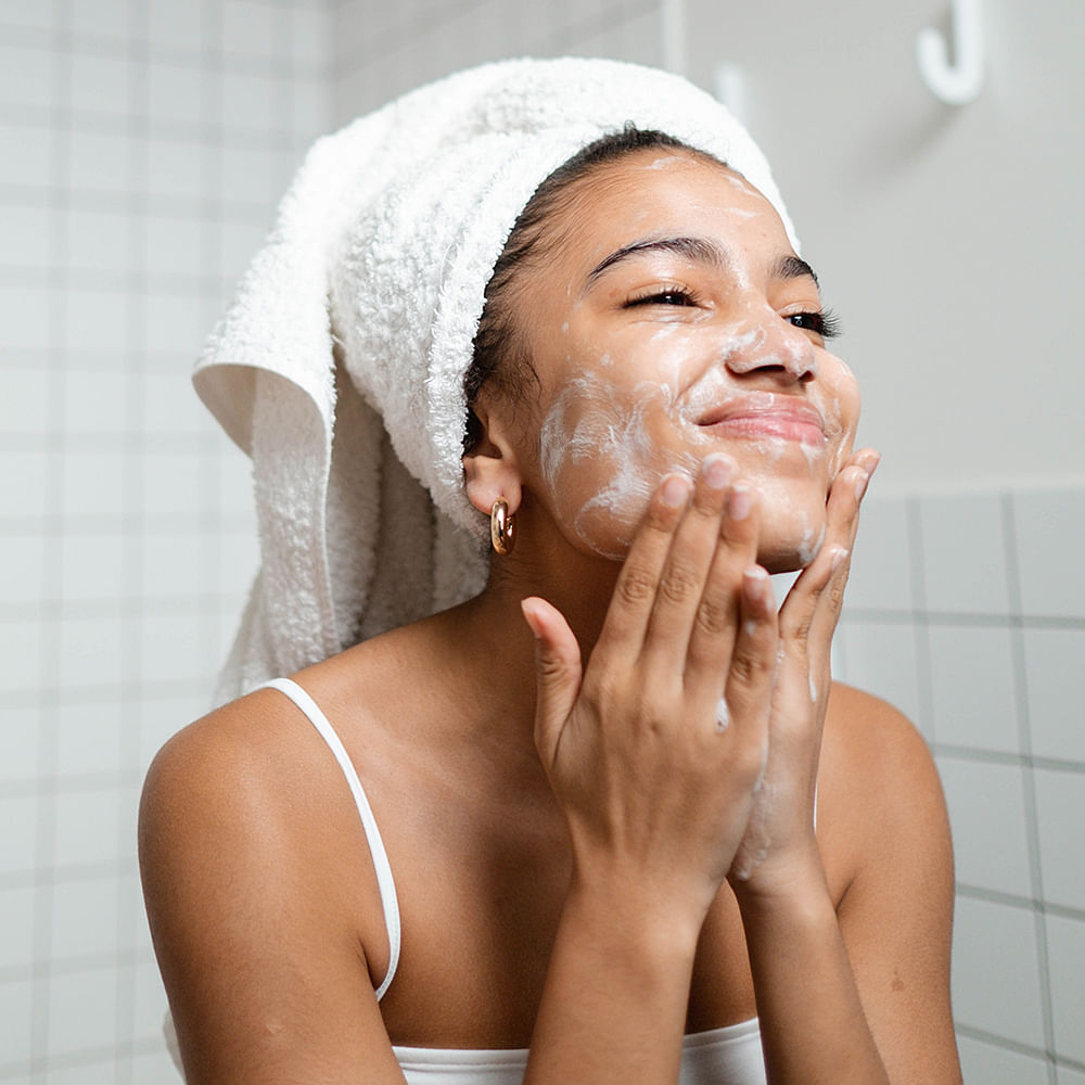
{"label": "woman's bare upper arm at left, outside the camisole strap", "polygon": [[189,1085],[401,1083],[305,766],[240,712],[171,739],[140,807],[144,897]]}

